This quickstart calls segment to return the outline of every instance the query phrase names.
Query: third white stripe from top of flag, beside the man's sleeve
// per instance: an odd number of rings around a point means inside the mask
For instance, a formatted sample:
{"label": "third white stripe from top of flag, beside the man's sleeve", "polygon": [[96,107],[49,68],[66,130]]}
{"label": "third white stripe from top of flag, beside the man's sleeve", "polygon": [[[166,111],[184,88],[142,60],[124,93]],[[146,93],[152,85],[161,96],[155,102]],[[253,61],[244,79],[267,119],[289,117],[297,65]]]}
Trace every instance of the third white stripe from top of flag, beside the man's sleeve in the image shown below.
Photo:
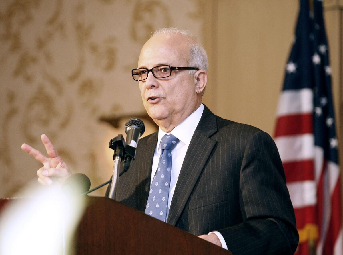
{"label": "third white stripe from top of flag, beside the man's sleeve", "polygon": [[315,205],[317,203],[317,186],[315,181],[291,182],[287,183],[287,188],[294,208]]}

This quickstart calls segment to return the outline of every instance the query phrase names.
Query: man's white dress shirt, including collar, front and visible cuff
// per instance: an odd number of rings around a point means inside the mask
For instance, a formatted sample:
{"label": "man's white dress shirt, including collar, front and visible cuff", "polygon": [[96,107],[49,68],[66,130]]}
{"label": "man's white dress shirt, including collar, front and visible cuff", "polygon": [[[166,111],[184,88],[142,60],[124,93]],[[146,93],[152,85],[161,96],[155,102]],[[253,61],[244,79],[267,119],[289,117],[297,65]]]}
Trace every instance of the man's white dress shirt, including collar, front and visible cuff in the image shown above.
{"label": "man's white dress shirt, including collar, front and visible cuff", "polygon": [[[201,104],[197,110],[195,110],[190,116],[188,116],[184,121],[182,121],[178,126],[176,126],[170,133],[168,133],[168,134],[174,135],[180,141],[178,142],[176,147],[171,151],[172,164],[171,164],[171,178],[170,178],[168,207],[167,207],[167,218],[169,214],[171,200],[173,199],[173,195],[174,195],[176,182],[177,182],[177,179],[179,178],[179,174],[181,171],[181,166],[182,166],[182,163],[184,162],[188,146],[191,142],[193,133],[198,126],[203,110],[204,110],[204,106],[203,104]],[[161,130],[161,128],[158,128],[158,139],[157,139],[157,145],[156,145],[154,158],[152,162],[150,185],[152,184],[153,178],[157,171],[158,161],[161,156],[161,139],[165,134],[167,133]],[[219,238],[220,242],[222,243],[222,247],[227,250],[226,243],[221,233],[217,231],[210,232],[210,233],[215,233],[217,237]]]}

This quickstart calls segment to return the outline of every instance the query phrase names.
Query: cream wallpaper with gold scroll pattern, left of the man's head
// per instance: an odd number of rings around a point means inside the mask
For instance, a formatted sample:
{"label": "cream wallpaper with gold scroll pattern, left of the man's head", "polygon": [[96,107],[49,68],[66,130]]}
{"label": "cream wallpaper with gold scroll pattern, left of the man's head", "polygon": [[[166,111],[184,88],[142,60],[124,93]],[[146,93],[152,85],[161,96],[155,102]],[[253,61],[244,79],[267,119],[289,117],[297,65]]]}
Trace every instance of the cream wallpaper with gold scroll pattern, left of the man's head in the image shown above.
{"label": "cream wallpaper with gold scroll pattern, left of the man's head", "polygon": [[[126,120],[115,129],[99,118],[145,112],[130,73],[141,46],[165,26],[201,38],[201,6],[201,0],[0,1],[0,197],[36,178],[41,164],[20,147],[45,152],[43,133],[92,187],[109,179],[108,142],[125,133]],[[147,124],[146,133],[153,129]]]}

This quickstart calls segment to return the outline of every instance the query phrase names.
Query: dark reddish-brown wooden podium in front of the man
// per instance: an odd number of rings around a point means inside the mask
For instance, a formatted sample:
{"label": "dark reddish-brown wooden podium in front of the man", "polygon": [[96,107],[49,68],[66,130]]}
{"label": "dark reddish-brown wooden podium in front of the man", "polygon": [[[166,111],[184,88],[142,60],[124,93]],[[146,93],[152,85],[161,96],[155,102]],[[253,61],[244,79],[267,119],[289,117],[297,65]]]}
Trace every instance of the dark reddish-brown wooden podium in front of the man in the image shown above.
{"label": "dark reddish-brown wooden podium in front of the man", "polygon": [[[0,210],[11,199],[0,199]],[[75,237],[76,254],[232,254],[114,200],[88,197]]]}

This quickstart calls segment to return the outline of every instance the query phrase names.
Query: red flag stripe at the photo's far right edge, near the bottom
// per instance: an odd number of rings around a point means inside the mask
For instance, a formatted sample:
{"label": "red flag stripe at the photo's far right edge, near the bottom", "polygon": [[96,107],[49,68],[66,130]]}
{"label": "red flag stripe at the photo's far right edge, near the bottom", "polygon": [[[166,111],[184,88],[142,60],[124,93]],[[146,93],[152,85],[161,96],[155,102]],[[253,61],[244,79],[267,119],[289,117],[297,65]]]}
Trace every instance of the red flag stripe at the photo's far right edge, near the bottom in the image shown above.
{"label": "red flag stripe at the photo's far right edge, near the bottom", "polygon": [[331,196],[331,218],[326,240],[323,245],[323,254],[333,254],[333,247],[341,229],[341,201],[340,179],[338,179]]}

